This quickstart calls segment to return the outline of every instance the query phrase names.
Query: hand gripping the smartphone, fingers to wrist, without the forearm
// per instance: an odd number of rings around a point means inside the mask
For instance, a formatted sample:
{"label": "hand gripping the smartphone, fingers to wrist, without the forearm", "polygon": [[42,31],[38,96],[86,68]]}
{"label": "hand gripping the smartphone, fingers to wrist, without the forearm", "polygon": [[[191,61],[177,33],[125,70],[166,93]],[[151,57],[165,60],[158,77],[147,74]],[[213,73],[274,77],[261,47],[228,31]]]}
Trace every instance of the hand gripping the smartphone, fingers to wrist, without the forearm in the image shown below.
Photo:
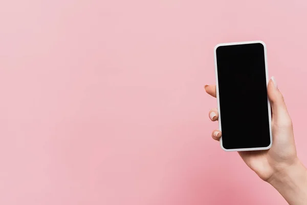
{"label": "hand gripping the smartphone, fingers to wrist, without the forearm", "polygon": [[[214,85],[206,85],[205,90],[209,95],[216,97]],[[294,143],[292,121],[282,94],[277,88],[274,77],[272,77],[268,85],[268,96],[272,106],[273,145],[271,149],[264,151],[239,152],[247,166],[249,166],[261,179],[265,181],[270,181],[275,173],[282,172],[284,169],[294,165],[298,161]],[[209,117],[212,121],[218,120],[218,112],[216,108],[210,110]],[[214,130],[212,132],[212,138],[215,140],[220,140],[221,136],[222,133],[220,130]]]}

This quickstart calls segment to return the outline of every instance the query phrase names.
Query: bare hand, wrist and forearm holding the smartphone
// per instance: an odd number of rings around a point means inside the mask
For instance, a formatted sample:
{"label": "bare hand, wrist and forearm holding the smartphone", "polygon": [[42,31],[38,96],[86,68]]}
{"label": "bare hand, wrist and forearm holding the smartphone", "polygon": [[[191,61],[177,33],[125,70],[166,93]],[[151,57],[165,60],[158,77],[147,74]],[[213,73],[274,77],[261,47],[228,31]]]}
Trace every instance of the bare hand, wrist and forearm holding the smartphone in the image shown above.
{"label": "bare hand, wrist and forearm holding the smartphone", "polygon": [[[206,85],[206,92],[216,97],[215,85]],[[269,182],[289,204],[307,204],[307,171],[296,154],[292,120],[274,77],[268,84],[272,107],[271,149],[238,152],[246,165],[262,180]],[[216,108],[209,111],[212,121],[218,120]],[[213,130],[212,138],[219,141],[220,130]]]}

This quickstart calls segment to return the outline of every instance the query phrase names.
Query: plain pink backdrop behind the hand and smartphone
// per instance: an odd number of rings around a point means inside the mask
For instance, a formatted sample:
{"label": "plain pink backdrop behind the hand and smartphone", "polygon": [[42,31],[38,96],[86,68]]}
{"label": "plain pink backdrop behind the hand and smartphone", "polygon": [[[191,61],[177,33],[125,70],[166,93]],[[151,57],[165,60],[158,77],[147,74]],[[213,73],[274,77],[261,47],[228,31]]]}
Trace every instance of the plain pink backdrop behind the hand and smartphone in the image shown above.
{"label": "plain pink backdrop behind the hand and smartphone", "polygon": [[203,86],[217,43],[264,40],[307,164],[306,10],[303,0],[2,1],[0,204],[286,204],[211,139],[216,101]]}

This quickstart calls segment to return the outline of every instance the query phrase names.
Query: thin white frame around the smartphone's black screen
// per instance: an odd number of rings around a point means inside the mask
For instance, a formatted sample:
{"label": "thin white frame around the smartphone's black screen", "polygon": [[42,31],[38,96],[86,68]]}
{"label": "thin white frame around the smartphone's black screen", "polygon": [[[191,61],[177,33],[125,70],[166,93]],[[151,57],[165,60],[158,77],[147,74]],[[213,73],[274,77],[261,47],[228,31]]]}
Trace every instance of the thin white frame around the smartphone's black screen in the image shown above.
{"label": "thin white frame around the smartphone's black screen", "polygon": [[[234,42],[234,43],[224,43],[224,44],[217,44],[214,47],[214,64],[215,64],[215,83],[216,83],[216,100],[217,100],[217,112],[218,112],[218,127],[219,129],[222,131],[222,122],[221,122],[221,112],[220,112],[220,94],[218,92],[218,76],[217,76],[217,60],[216,60],[216,49],[218,47],[221,46],[232,46],[232,45],[243,45],[243,44],[256,44],[256,43],[260,43],[264,46],[264,50],[265,50],[265,67],[266,67],[266,80],[267,80],[267,86],[269,84],[269,73],[268,73],[268,63],[267,63],[267,46],[264,42],[262,42],[261,40],[253,40],[253,41],[249,41],[249,42]],[[270,127],[270,145],[268,147],[260,147],[260,148],[242,148],[242,149],[225,149],[223,147],[223,133],[222,133],[222,137],[220,139],[220,145],[221,148],[226,151],[226,152],[233,152],[233,151],[255,151],[255,150],[268,150],[272,147],[272,125],[271,125],[271,121],[272,121],[272,116],[271,116],[271,103],[270,100],[268,98],[268,111],[269,111],[269,127]]]}

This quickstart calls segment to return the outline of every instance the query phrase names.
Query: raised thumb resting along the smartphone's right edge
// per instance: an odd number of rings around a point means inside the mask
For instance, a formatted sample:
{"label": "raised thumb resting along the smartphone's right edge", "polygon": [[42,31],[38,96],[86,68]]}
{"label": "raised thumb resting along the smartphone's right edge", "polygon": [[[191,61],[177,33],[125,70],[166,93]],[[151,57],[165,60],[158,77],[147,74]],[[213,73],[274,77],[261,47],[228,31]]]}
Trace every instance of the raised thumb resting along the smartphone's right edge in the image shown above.
{"label": "raised thumb resting along the smartphone's right edge", "polygon": [[272,107],[272,120],[278,127],[292,126],[290,115],[288,114],[286,103],[283,96],[277,88],[277,82],[274,77],[269,81],[268,97]]}

